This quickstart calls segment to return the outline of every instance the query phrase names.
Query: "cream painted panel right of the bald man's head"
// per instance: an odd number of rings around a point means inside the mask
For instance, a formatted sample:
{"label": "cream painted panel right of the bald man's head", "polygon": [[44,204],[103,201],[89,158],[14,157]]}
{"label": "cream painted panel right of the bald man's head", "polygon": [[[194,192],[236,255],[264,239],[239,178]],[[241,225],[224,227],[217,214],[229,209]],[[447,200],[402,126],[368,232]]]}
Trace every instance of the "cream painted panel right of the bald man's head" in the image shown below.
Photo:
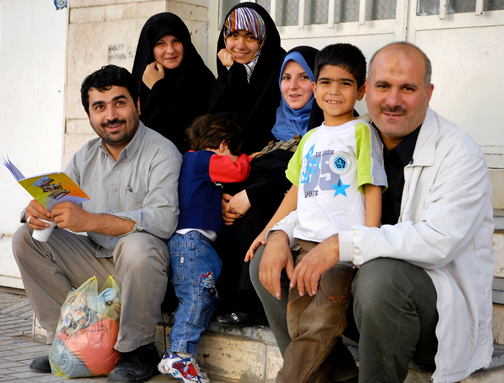
{"label": "cream painted panel right of the bald man's head", "polygon": [[482,147],[504,148],[504,26],[419,31],[432,61],[431,106],[464,128]]}

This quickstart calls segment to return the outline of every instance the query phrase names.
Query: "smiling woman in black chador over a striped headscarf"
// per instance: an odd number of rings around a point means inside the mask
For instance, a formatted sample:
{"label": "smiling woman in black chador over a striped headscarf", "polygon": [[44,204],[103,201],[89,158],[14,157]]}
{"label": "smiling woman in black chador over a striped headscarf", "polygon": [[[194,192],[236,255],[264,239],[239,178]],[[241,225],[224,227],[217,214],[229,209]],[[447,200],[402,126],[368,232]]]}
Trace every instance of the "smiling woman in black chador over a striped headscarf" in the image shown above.
{"label": "smiling woman in black chador over a striped headscarf", "polygon": [[241,3],[226,15],[217,44],[218,79],[208,112],[226,113],[242,128],[247,153],[274,139],[278,74],[285,51],[266,10]]}

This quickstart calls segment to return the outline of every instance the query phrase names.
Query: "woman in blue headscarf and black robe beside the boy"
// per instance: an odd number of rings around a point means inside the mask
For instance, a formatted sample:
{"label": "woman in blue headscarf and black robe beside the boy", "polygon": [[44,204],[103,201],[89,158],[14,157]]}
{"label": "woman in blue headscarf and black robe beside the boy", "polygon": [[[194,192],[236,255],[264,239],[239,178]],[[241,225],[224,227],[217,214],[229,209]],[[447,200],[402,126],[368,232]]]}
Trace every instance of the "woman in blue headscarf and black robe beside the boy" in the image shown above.
{"label": "woman in blue headscarf and black robe beside the boy", "polygon": [[[271,129],[276,140],[289,141],[295,136],[303,136],[308,129],[323,121],[321,110],[317,110],[318,105],[313,102],[312,81],[317,52],[315,48],[300,46],[284,56],[279,76],[282,97]],[[314,114],[310,120],[312,107]],[[216,244],[223,262],[219,293],[223,298],[221,310],[224,313],[217,316],[220,323],[252,325],[264,318],[261,301],[250,281],[249,263],[243,259],[292,186],[285,177],[285,170],[293,154],[278,149],[254,158],[249,179],[235,185],[234,190],[224,190],[224,198],[229,202],[223,215],[226,224],[230,225],[231,235]],[[235,293],[226,296],[227,292]]]}

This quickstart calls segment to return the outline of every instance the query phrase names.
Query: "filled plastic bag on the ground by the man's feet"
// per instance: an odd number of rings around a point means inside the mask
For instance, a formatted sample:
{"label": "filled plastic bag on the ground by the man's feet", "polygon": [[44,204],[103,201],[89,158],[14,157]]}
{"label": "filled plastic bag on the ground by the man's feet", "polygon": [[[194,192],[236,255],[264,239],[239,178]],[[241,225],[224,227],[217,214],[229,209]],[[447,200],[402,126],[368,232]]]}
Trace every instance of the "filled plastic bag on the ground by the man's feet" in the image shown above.
{"label": "filled plastic bag on the ground by the man's feet", "polygon": [[52,373],[65,378],[108,375],[120,358],[114,349],[120,316],[121,292],[112,276],[100,294],[96,277],[70,292],[49,353]]}

